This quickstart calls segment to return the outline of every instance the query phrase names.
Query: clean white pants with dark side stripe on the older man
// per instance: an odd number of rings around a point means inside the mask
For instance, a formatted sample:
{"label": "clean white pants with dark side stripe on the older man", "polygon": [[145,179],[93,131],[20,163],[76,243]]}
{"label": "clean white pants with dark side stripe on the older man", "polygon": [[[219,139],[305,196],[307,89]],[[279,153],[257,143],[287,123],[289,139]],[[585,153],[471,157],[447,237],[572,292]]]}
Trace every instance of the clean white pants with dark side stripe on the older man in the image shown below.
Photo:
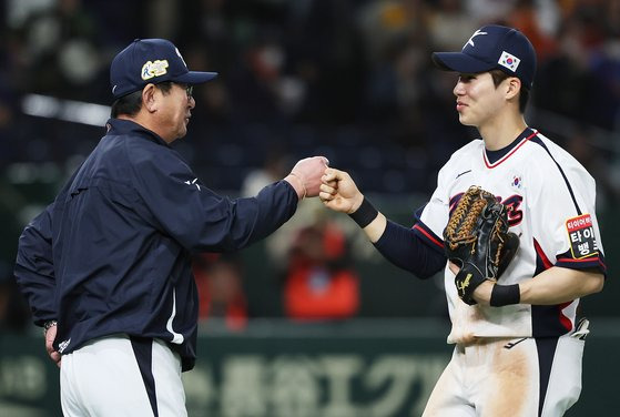
{"label": "clean white pants with dark side stripe on the older man", "polygon": [[68,417],[187,415],[179,355],[161,340],[126,335],[62,355],[60,398]]}

